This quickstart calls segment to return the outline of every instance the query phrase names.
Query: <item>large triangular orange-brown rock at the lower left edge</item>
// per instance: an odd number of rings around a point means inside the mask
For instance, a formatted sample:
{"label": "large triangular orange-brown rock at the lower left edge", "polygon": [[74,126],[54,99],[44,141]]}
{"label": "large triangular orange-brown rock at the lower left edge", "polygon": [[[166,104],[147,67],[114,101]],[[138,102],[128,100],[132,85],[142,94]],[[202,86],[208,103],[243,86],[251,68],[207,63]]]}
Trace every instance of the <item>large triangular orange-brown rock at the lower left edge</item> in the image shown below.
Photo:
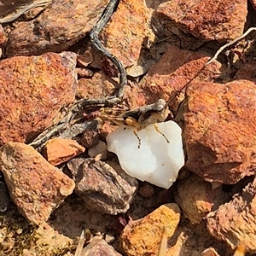
{"label": "large triangular orange-brown rock at the lower left edge", "polygon": [[42,224],[73,193],[73,180],[24,143],[0,148],[0,169],[19,212],[32,224]]}

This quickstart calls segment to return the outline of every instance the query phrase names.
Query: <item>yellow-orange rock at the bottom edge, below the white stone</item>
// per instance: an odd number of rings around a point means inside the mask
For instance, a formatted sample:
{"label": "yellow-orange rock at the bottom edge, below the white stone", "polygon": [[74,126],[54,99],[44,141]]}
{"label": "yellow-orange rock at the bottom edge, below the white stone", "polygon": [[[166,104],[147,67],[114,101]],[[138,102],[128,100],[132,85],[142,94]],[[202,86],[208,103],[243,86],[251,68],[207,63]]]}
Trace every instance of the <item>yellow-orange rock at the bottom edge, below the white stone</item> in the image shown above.
{"label": "yellow-orange rock at the bottom edge, below the white stone", "polygon": [[[120,242],[127,255],[158,255],[163,231],[172,237],[180,220],[177,204],[162,205],[146,217],[132,221],[125,226]],[[166,245],[167,246],[167,245]]]}

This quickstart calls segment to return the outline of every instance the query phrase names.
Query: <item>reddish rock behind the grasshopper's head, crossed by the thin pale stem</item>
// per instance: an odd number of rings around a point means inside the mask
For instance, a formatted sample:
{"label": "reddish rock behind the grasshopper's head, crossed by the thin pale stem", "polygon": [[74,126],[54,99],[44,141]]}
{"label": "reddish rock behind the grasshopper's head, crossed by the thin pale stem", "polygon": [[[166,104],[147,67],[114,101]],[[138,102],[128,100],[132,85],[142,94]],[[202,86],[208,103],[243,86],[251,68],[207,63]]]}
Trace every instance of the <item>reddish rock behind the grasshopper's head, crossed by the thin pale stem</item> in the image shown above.
{"label": "reddish rock behind the grasshopper's head, crossed by the thin pale stem", "polygon": [[[208,60],[209,57],[202,52],[171,46],[160,61],[149,69],[139,84],[143,89],[143,94],[148,98],[146,102],[156,102],[160,98],[167,101],[174,90],[183,90],[192,80],[212,81],[216,79],[220,65],[218,62],[210,64],[208,69],[212,70],[211,72],[204,67]],[[183,96],[177,102],[182,100]],[[174,104],[177,105],[177,102]]]}

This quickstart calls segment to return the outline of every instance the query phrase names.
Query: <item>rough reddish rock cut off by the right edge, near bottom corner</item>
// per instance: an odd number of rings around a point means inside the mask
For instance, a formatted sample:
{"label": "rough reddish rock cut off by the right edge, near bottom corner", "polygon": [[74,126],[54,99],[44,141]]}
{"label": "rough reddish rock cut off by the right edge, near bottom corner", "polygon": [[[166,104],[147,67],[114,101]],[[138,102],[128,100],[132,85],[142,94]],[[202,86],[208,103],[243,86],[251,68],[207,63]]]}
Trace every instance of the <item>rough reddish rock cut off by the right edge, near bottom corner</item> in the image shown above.
{"label": "rough reddish rock cut off by the right edge, near bottom corner", "polygon": [[232,249],[244,244],[248,253],[256,253],[256,178],[241,195],[234,195],[232,201],[208,214],[207,228]]}

